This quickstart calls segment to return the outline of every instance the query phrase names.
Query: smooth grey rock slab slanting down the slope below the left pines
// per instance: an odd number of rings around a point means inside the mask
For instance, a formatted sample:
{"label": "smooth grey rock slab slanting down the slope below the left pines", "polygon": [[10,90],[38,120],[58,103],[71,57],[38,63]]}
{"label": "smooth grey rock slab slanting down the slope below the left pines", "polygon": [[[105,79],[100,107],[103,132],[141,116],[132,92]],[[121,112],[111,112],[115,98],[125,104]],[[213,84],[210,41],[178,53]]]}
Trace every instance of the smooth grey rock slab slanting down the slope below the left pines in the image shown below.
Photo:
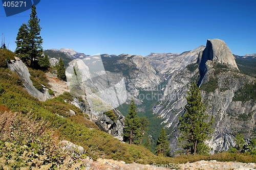
{"label": "smooth grey rock slab slanting down the slope below the left pines", "polygon": [[47,88],[43,88],[44,90],[38,91],[33,86],[33,83],[30,80],[29,70],[27,66],[22,62],[22,60],[20,60],[18,57],[15,57],[15,60],[9,61],[7,65],[8,68],[10,68],[12,71],[17,72],[29,94],[37,98],[39,101],[46,101],[47,99],[51,98]]}

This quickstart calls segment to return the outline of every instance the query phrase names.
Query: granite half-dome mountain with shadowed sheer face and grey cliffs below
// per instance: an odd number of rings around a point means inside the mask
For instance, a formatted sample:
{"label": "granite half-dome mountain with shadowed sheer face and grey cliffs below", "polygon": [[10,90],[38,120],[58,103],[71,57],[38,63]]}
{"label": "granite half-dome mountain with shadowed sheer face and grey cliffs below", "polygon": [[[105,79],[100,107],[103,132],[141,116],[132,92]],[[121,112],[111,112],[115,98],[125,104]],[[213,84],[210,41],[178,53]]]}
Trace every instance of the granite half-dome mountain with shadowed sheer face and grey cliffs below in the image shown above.
{"label": "granite half-dome mountain with shadowed sheer face and grey cliffs below", "polygon": [[[177,150],[177,127],[179,116],[184,113],[186,91],[190,82],[198,81],[199,77],[201,78],[198,85],[206,112],[215,118],[215,132],[207,141],[212,148],[211,153],[227,151],[234,147],[234,136],[238,133],[243,133],[246,138],[256,136],[256,102],[248,96],[243,97],[248,95],[256,79],[238,71],[231,51],[222,40],[207,40],[205,49],[200,51],[198,56],[199,69],[196,68],[195,60],[190,66],[196,69],[187,67],[170,74],[163,98],[153,108],[154,114],[162,117],[165,127],[172,132],[172,152]],[[162,67],[158,68],[161,68],[159,71],[164,70]]]}

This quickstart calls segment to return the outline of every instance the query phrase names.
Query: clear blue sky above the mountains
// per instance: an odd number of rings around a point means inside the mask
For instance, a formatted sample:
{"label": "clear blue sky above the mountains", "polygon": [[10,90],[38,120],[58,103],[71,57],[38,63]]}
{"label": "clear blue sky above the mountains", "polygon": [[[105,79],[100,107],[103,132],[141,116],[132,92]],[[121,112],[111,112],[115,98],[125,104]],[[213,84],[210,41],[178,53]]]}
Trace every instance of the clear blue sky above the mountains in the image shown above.
{"label": "clear blue sky above the mountains", "polygon": [[[0,7],[0,36],[12,51],[30,12],[6,17]],[[182,53],[219,38],[233,54],[256,53],[255,0],[41,0],[36,12],[45,50],[146,56]]]}

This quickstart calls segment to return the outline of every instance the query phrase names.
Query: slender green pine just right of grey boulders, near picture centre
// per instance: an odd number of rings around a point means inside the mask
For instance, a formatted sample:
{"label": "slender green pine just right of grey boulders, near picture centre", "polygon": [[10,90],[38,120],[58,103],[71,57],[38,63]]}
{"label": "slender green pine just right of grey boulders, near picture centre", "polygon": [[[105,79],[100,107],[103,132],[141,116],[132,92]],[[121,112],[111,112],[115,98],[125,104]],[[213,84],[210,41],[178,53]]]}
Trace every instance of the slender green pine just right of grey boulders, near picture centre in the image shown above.
{"label": "slender green pine just right of grey boulders, near picture centre", "polygon": [[129,141],[130,144],[139,144],[140,138],[142,137],[140,127],[140,118],[137,115],[136,105],[132,99],[129,106],[129,113],[125,117],[124,140]]}

